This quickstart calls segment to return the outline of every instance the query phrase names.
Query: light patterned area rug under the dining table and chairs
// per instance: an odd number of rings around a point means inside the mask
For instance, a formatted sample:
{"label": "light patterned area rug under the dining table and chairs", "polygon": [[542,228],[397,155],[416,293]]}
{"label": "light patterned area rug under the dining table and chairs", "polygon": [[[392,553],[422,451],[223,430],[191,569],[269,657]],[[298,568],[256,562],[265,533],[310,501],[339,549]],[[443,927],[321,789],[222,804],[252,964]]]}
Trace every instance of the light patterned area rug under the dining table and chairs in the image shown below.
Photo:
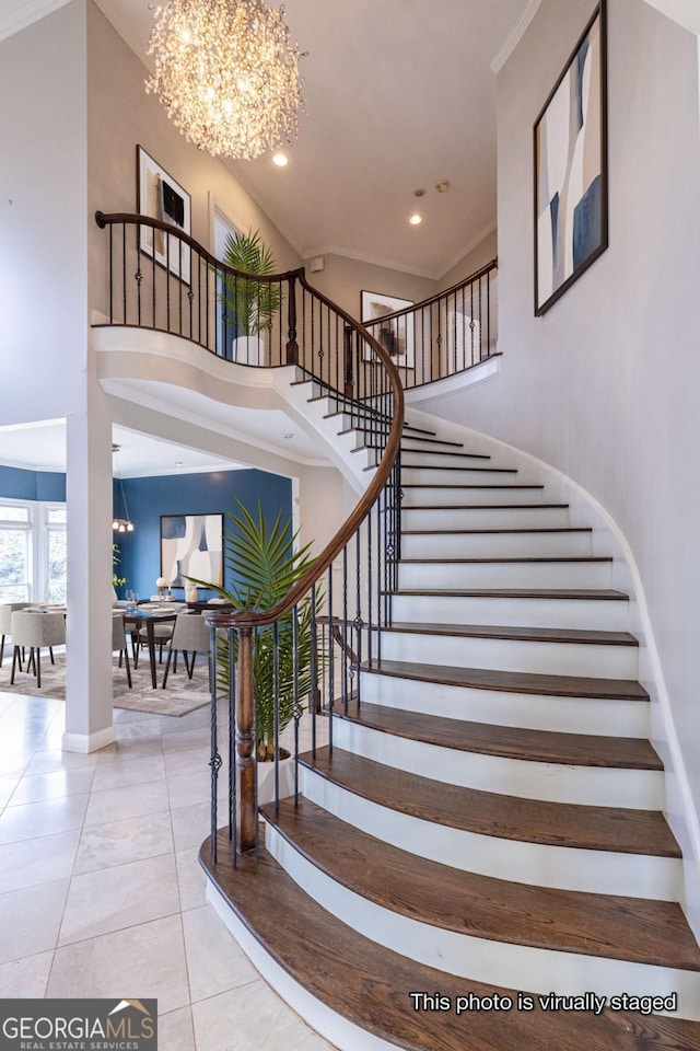
{"label": "light patterned area rug under the dining table and chairs", "polygon": [[[48,654],[42,654],[42,689],[36,688],[36,677],[32,673],[18,671],[14,685],[10,684],[12,671],[12,654],[5,650],[2,668],[0,668],[0,691],[5,693],[22,693],[34,697],[54,697],[57,701],[66,700],[66,658],[56,654],[56,663],[51,665]],[[132,712],[147,712],[150,715],[180,716],[202,708],[211,701],[209,692],[209,677],[207,661],[195,665],[191,680],[187,678],[185,663],[178,656],[177,672],[171,670],[167,685],[162,689],[165,661],[156,665],[158,688],[151,685],[151,667],[148,655],[133,667],[131,661],[131,681],[133,689],[129,690],[127,673],[124,667],[119,668],[117,658],[114,658],[114,706],[129,708]]]}

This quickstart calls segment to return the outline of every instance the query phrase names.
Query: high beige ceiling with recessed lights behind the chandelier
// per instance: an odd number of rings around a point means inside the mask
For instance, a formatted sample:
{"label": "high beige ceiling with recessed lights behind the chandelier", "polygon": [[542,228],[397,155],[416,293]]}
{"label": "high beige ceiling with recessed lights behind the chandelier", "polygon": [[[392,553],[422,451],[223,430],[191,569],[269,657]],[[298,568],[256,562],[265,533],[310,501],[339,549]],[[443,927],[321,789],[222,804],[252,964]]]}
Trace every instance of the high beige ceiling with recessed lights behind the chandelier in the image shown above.
{"label": "high beige ceiling with recessed lights behind the chandelier", "polygon": [[[154,4],[97,3],[148,62]],[[285,0],[290,38],[308,53],[299,138],[285,169],[269,154],[230,166],[302,257],[335,252],[441,277],[495,226],[490,62],[538,4]]]}

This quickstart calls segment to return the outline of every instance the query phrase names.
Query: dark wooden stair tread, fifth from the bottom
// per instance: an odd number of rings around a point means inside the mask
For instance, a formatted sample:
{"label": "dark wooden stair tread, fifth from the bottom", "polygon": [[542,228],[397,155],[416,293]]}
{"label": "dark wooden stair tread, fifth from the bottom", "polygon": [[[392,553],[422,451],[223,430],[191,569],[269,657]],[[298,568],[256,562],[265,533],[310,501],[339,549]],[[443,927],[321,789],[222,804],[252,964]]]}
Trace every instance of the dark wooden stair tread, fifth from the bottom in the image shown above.
{"label": "dark wooden stair tread, fifth from the bottom", "polygon": [[632,679],[596,679],[587,675],[548,675],[491,668],[454,668],[401,660],[372,660],[363,671],[394,679],[416,679],[447,686],[470,686],[504,693],[536,693],[556,697],[588,700],[649,701],[649,694]]}

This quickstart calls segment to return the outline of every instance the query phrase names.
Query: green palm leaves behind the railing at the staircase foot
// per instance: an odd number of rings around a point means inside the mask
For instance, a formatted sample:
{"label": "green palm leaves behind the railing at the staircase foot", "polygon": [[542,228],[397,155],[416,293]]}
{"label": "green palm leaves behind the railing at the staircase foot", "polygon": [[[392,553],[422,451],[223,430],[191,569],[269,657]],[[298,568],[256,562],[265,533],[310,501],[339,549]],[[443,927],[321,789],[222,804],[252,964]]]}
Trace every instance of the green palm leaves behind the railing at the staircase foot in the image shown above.
{"label": "green palm leaves behind the railing at the staircase foot", "polygon": [[[195,582],[210,588],[237,610],[269,610],[276,605],[306,573],[314,559],[311,544],[294,550],[298,533],[292,533],[291,519],[277,516],[270,528],[258,500],[257,519],[240,501],[238,513],[229,511],[224,531],[224,562],[233,580],[230,588]],[[318,610],[319,601],[316,601]],[[296,646],[294,646],[294,614],[288,613],[256,632],[253,652],[253,674],[256,696],[258,759],[273,758],[275,752],[275,685],[278,686],[278,720],[280,731],[294,717],[295,698],[303,704],[312,688],[313,671],[313,610],[311,598],[296,607]],[[275,642],[277,635],[277,667]],[[236,644],[237,650],[237,644]],[[237,657],[237,652],[236,652]],[[320,655],[316,654],[317,661]],[[317,667],[319,665],[317,663]],[[296,678],[296,688],[294,680]],[[228,692],[230,660],[228,637],[217,645],[217,681]]]}

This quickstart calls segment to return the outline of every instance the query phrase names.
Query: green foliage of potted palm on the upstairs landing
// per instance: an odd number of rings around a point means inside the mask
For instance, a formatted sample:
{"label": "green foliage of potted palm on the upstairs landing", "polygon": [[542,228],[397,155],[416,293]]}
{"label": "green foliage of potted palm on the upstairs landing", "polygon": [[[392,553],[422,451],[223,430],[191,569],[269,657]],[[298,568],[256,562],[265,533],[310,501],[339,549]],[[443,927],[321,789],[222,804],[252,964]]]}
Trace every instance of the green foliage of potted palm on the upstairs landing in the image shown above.
{"label": "green foliage of potted palm on the upstairs landing", "polygon": [[[275,273],[275,258],[262,241],[260,231],[230,233],[223,250],[223,262],[250,278]],[[256,336],[272,327],[275,314],[282,305],[282,289],[268,281],[223,275],[224,320],[235,325],[244,336]]]}

